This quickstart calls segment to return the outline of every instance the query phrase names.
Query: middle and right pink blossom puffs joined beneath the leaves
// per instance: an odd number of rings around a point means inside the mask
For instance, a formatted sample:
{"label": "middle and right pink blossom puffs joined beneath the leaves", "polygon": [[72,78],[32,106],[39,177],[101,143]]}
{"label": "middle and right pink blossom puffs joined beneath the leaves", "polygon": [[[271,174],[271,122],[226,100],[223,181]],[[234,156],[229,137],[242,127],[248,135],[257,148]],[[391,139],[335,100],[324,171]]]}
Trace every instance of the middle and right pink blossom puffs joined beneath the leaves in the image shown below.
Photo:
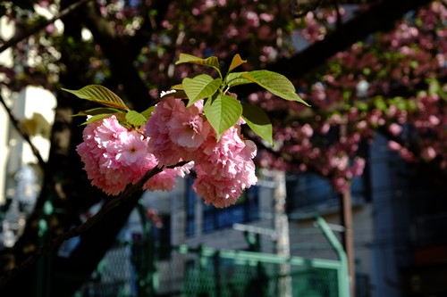
{"label": "middle and right pink blossom puffs joined beneath the leaves", "polygon": [[243,140],[240,124],[216,140],[214,130],[203,116],[203,101],[190,107],[168,97],[156,104],[146,124],[148,151],[163,165],[194,161],[198,178],[194,190],[207,204],[225,207],[233,204],[241,192],[255,185],[256,145]]}

